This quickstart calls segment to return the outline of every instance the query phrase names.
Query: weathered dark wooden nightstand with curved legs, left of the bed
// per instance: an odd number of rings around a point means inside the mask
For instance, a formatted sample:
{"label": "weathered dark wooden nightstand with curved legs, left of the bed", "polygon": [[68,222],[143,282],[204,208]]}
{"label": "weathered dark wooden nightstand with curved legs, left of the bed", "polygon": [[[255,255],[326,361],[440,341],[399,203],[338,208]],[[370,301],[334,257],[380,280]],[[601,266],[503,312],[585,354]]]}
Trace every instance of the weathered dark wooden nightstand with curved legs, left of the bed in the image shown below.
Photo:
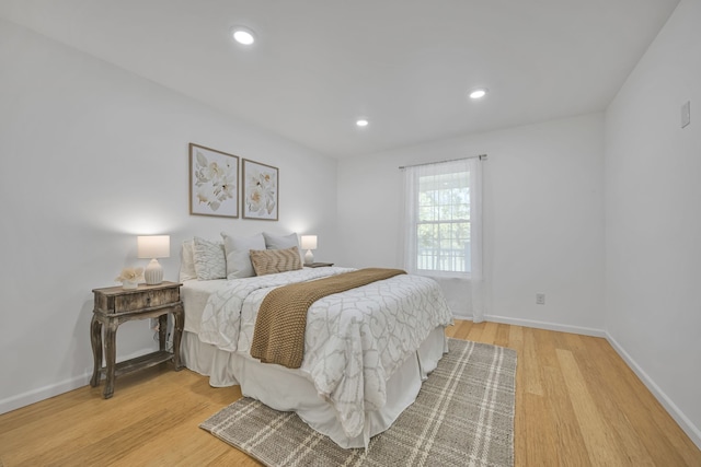
{"label": "weathered dark wooden nightstand with curved legs, left of the bed", "polygon": [[[158,285],[139,285],[125,290],[122,287],[94,289],[95,307],[90,323],[90,342],[94,358],[94,370],[90,385],[100,384],[102,373],[106,376],[103,396],[108,399],[114,394],[114,378],[124,373],[146,369],[172,360],[175,371],[183,365],[180,362],[180,341],[183,336],[185,313],[180,300],[180,287],[175,282],[162,282]],[[165,350],[168,314],[173,314],[173,351]],[[115,364],[117,327],[131,319],[159,318],[159,350]],[[104,332],[105,366],[102,366],[102,327]]]}

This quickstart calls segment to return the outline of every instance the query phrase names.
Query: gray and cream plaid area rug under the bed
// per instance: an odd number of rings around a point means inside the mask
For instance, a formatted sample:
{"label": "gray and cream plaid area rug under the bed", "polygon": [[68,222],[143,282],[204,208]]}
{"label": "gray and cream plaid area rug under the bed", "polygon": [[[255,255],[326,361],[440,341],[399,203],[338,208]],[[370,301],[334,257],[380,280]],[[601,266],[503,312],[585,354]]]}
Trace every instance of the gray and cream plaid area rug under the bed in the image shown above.
{"label": "gray and cream plaid area rug under the bed", "polygon": [[200,428],[266,466],[513,466],[516,351],[457,339],[449,349],[367,452],[246,397]]}

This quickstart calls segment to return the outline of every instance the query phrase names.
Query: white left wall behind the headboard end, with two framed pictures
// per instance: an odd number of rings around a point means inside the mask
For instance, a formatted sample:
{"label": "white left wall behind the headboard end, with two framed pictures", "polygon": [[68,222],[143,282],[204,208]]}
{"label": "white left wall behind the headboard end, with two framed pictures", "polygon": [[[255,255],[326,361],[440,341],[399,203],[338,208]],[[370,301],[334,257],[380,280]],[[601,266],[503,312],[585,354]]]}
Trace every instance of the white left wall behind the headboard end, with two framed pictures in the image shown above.
{"label": "white left wall behind the headboard end, with two framed pictures", "polygon": [[[189,215],[188,142],[279,167],[279,222]],[[171,235],[166,280],[223,230],[337,256],[335,160],[1,20],[0,154],[0,412],[88,383],[91,291],[146,265],[137,234]],[[153,346],[148,322],[117,332],[118,360]]]}

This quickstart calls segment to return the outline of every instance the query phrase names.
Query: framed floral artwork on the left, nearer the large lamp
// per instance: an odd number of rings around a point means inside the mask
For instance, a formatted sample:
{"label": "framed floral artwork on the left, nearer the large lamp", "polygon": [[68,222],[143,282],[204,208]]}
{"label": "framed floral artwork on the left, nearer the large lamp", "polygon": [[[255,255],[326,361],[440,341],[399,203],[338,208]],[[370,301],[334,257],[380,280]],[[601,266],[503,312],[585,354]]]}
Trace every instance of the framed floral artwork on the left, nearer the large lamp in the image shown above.
{"label": "framed floral artwork on the left, nearer the large lamp", "polygon": [[239,157],[189,144],[189,213],[239,217]]}

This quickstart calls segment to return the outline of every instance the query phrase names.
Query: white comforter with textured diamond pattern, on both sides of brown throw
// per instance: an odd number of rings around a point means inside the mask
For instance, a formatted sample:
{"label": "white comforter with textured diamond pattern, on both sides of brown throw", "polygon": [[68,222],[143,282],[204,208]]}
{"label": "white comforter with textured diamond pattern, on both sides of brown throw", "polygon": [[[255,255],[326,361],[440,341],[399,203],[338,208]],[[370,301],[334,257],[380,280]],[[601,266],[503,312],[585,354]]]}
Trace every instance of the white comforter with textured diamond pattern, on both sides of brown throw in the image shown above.
{"label": "white comforter with textured diamond pattern, on both sides of brown throw", "polygon": [[[205,306],[199,339],[219,349],[249,352],[255,317],[275,287],[347,272],[315,268],[227,281]],[[365,412],[384,406],[386,382],[436,326],[452,324],[433,279],[400,275],[317,301],[307,316],[300,371],[329,400],[349,437]]]}

